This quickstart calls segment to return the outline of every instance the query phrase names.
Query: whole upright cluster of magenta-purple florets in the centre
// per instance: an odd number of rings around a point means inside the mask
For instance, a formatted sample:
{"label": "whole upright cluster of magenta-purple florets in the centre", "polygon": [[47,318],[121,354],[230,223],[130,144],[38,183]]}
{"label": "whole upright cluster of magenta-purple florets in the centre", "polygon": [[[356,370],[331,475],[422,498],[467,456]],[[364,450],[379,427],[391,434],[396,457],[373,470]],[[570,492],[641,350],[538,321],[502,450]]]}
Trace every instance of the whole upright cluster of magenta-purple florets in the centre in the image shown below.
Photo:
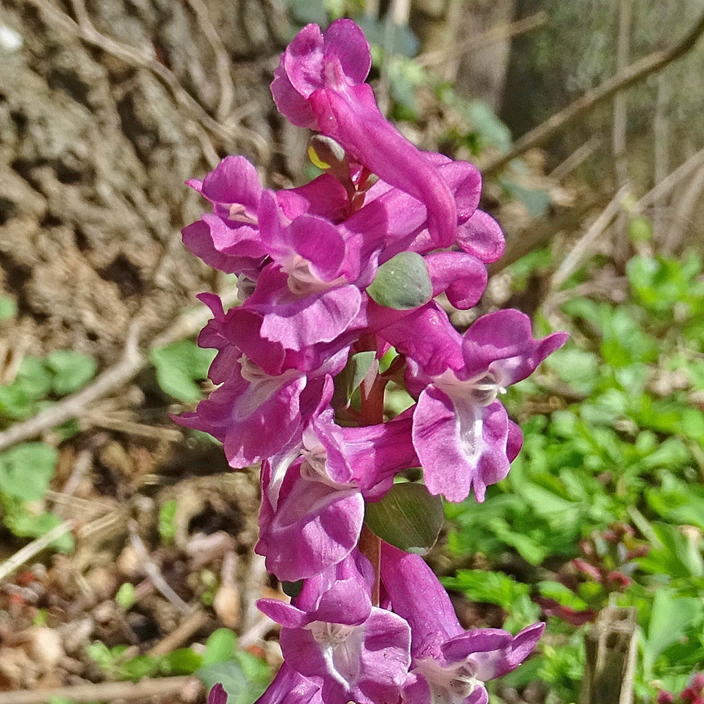
{"label": "whole upright cluster of magenta-purple florets in the centre", "polygon": [[[262,703],[486,704],[484,682],[517,667],[543,624],[465,631],[420,555],[360,550],[365,503],[419,466],[430,494],[482,501],[522,442],[498,398],[565,335],[533,339],[517,310],[455,331],[434,297],[474,306],[503,235],[477,209],[476,168],[408,142],[379,112],[369,70],[350,20],[304,27],[271,89],[286,118],[318,133],[310,154],[325,172],[272,191],[235,156],[190,182],[213,208],[184,242],[237,275],[241,305],[201,295],[218,388],[177,420],[222,441],[232,467],[261,463],[256,551],[298,590],[258,603],[281,624],[284,655]],[[360,353],[372,361],[356,410],[339,380]],[[391,376],[416,402],[384,422]]]}

